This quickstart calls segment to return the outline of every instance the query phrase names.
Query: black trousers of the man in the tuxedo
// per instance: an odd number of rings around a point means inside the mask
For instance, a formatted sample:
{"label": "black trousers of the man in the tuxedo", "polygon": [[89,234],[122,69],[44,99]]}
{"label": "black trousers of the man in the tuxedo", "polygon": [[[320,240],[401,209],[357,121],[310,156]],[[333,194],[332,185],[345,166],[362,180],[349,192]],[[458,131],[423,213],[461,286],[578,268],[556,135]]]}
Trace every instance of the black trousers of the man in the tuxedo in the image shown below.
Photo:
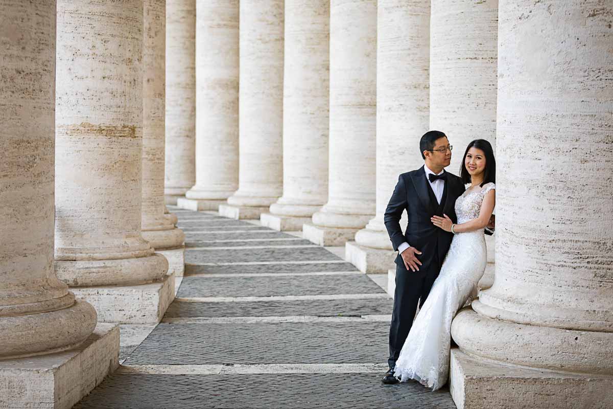
{"label": "black trousers of the man in the tuxedo", "polygon": [[[435,252],[438,254],[438,249]],[[396,291],[394,292],[394,310],[389,327],[389,359],[387,365],[393,369],[419,308],[424,305],[430,289],[441,271],[438,256],[432,260],[427,272],[413,272],[405,267],[396,266]],[[421,269],[422,270],[422,269]]]}

